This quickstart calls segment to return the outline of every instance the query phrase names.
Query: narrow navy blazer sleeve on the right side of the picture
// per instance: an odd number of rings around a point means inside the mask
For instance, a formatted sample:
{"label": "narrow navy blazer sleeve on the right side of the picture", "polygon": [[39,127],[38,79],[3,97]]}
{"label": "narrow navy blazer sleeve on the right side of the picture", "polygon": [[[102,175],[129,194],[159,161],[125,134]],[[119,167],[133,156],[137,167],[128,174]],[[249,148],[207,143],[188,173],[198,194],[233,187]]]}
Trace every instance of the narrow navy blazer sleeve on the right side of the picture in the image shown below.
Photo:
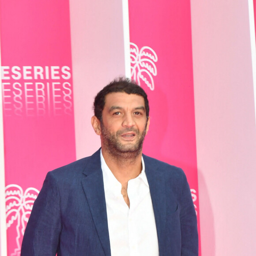
{"label": "narrow navy blazer sleeve on the right side of the picture", "polygon": [[198,256],[197,218],[187,178],[181,196],[181,256]]}

